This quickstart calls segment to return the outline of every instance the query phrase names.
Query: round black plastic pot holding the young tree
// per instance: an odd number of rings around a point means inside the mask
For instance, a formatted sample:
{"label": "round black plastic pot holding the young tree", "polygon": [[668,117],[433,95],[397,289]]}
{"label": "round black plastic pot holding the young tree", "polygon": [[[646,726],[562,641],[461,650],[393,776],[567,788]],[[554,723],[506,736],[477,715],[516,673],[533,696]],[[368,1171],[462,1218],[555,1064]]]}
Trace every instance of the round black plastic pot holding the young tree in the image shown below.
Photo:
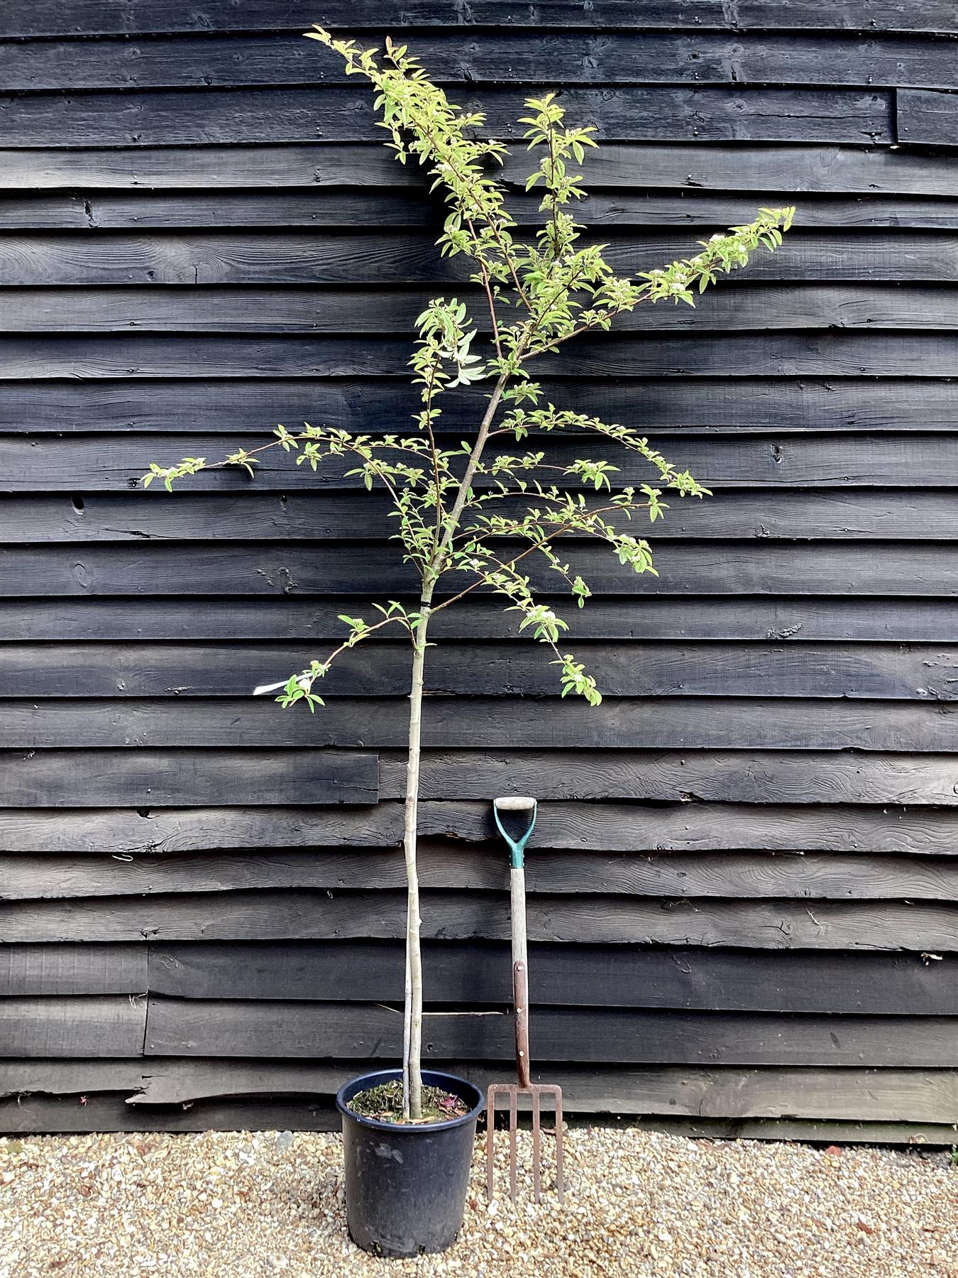
{"label": "round black plastic pot holding the young tree", "polygon": [[475,1123],[483,1094],[453,1074],[423,1071],[423,1084],[451,1091],[469,1113],[448,1122],[402,1126],[354,1113],[367,1088],[401,1079],[401,1070],[364,1074],[340,1088],[346,1158],[346,1223],[353,1241],[377,1256],[445,1251],[462,1228]]}

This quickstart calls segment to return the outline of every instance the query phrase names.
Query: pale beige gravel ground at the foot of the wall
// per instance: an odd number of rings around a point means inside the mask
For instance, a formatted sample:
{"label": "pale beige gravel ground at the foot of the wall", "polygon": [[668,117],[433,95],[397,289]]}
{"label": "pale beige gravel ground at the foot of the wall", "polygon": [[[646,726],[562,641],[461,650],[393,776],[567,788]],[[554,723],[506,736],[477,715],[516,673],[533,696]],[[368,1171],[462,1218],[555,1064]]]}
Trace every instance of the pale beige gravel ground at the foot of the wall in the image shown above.
{"label": "pale beige gravel ground at the foot of the wall", "polygon": [[383,1261],[346,1237],[337,1136],[0,1140],[0,1278],[958,1278],[941,1157],[609,1128],[566,1157],[566,1208],[513,1209],[478,1148],[457,1245]]}

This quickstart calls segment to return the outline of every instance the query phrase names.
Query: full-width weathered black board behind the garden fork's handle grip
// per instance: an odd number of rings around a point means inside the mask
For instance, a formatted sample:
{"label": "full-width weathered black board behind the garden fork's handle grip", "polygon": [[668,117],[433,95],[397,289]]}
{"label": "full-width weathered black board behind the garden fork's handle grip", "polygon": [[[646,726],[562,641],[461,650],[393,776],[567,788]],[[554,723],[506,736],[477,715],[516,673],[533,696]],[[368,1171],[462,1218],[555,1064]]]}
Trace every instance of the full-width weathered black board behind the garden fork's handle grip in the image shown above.
{"label": "full-width weathered black board behind the garden fork's handle grip", "polygon": [[[423,838],[478,843],[496,837],[488,799],[425,801]],[[244,847],[399,847],[402,803],[374,808],[147,808],[8,812],[5,852],[144,855]],[[953,855],[958,813],[935,808],[834,804],[662,805],[544,803],[535,846],[562,851],[829,851]]]}

